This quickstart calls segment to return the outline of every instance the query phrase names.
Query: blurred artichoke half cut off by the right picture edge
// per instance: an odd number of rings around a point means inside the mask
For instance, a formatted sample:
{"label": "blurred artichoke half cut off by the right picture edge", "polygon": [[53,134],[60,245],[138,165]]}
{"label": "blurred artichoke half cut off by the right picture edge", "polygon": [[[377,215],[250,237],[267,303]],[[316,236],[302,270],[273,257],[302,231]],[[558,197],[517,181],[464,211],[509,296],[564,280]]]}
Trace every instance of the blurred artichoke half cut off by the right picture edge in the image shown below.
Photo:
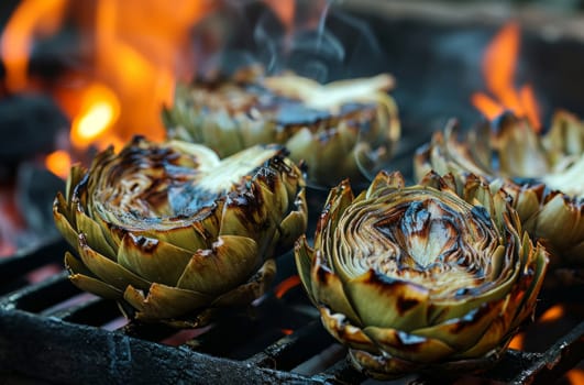
{"label": "blurred artichoke half cut off by the right picture edge", "polygon": [[463,138],[451,122],[421,147],[415,169],[474,173],[514,198],[524,228],[546,240],[558,270],[584,267],[584,124],[559,111],[539,134],[510,113],[470,130]]}

